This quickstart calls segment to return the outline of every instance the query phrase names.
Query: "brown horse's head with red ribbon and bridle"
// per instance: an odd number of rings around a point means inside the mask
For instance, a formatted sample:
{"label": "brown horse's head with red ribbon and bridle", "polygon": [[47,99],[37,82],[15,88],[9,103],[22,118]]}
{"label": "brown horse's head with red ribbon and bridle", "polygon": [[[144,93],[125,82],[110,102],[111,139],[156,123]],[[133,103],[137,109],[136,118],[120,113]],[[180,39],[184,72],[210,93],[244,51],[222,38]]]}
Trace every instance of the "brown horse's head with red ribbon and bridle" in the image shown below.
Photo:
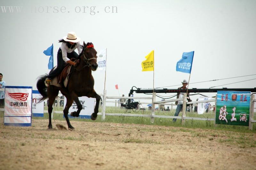
{"label": "brown horse's head with red ribbon and bridle", "polygon": [[92,43],[84,43],[84,51],[81,59],[87,63],[88,66],[92,67],[92,71],[95,71],[98,68],[97,64],[97,51],[94,49]]}

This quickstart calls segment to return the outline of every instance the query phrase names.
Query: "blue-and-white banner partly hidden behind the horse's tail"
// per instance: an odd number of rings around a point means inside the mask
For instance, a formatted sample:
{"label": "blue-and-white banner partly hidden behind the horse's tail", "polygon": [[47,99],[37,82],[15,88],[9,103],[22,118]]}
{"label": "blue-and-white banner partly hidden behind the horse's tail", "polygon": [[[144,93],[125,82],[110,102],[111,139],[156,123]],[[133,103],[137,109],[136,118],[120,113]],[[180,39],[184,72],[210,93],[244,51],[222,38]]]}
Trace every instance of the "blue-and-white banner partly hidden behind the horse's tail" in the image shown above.
{"label": "blue-and-white banner partly hidden behind the horse's tail", "polygon": [[38,90],[32,90],[32,113],[34,117],[44,117],[44,102],[36,103],[42,95]]}

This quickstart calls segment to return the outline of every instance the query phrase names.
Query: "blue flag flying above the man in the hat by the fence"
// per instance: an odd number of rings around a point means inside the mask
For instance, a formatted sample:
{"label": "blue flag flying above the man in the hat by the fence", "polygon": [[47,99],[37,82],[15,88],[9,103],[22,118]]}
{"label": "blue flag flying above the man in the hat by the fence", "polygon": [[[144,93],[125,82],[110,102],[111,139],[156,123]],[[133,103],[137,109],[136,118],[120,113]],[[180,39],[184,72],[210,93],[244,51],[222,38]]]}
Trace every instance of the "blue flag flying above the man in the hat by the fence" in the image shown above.
{"label": "blue flag flying above the man in the hat by the fence", "polygon": [[183,52],[182,58],[177,62],[176,71],[183,73],[191,73],[194,51]]}

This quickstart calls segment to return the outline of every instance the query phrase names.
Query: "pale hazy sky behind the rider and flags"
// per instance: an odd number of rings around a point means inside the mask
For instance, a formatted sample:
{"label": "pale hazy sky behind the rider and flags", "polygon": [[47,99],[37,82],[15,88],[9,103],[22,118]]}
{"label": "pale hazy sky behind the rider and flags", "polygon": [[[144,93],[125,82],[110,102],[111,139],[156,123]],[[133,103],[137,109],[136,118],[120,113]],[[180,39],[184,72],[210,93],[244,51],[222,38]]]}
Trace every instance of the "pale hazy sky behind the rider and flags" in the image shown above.
{"label": "pale hazy sky behind the rider and flags", "polygon": [[[21,13],[16,9],[13,13],[9,9],[3,12],[0,8],[0,73],[6,85],[36,89],[36,78],[49,72],[49,56],[43,51],[53,43],[54,65],[57,64],[58,40],[70,31],[76,32],[81,43],[92,42],[97,51],[107,48],[108,96],[118,96],[115,84],[120,95],[125,96],[132,86],[153,87],[153,72],[141,71],[141,62],[151,50],[155,50],[155,88],[188,80],[189,74],[176,72],[176,63],[183,52],[193,50],[191,83],[255,74],[254,0],[1,0],[0,4],[22,6]],[[93,76],[95,90],[103,93],[105,74],[96,71]],[[255,78],[254,75],[210,81],[191,84],[189,88],[209,88]],[[223,87],[254,88],[255,84],[256,80],[252,80]]]}

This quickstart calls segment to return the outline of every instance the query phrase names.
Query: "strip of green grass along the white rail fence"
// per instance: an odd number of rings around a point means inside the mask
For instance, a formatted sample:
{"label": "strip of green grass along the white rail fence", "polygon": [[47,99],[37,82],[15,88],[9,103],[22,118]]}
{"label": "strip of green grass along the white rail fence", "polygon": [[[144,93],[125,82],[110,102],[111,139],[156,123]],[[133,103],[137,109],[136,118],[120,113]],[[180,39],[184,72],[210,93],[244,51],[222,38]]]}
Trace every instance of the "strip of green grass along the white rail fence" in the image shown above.
{"label": "strip of green grass along the white rail fence", "polygon": [[[47,107],[44,108],[47,110]],[[54,107],[54,111],[62,111],[62,107]],[[101,108],[99,109],[101,112]],[[156,115],[166,115],[173,116],[175,109],[170,112],[166,111],[155,111]],[[124,109],[117,107],[106,107],[106,113],[125,113]],[[140,110],[139,112],[131,112],[129,114],[147,114],[150,115],[151,111],[149,110]],[[179,116],[182,115],[180,112]],[[197,117],[197,118],[214,118],[214,112],[210,111],[209,113],[197,114],[192,112],[186,113],[187,117]],[[0,112],[0,117],[4,117],[4,113]],[[254,113],[254,119],[256,118],[256,113]],[[44,117],[33,117],[32,119],[48,119],[48,113],[44,113]],[[63,114],[54,113],[53,120],[65,120]],[[109,122],[109,123],[128,123],[128,124],[143,124],[143,125],[160,125],[160,126],[172,126],[172,127],[185,127],[185,128],[202,128],[202,129],[215,129],[215,130],[228,130],[228,131],[237,131],[237,132],[248,132],[250,131],[248,127],[244,126],[232,126],[232,125],[217,125],[214,126],[214,121],[205,121],[205,120],[186,120],[184,126],[181,125],[181,119],[178,119],[176,123],[172,122],[172,119],[167,118],[155,118],[154,123],[151,123],[150,118],[143,117],[128,117],[128,116],[106,116],[105,120],[101,120],[101,115],[98,115],[97,120],[91,119],[77,119],[72,118],[70,120],[75,121],[84,121],[84,122]],[[256,133],[256,124],[253,126],[252,133]]]}

